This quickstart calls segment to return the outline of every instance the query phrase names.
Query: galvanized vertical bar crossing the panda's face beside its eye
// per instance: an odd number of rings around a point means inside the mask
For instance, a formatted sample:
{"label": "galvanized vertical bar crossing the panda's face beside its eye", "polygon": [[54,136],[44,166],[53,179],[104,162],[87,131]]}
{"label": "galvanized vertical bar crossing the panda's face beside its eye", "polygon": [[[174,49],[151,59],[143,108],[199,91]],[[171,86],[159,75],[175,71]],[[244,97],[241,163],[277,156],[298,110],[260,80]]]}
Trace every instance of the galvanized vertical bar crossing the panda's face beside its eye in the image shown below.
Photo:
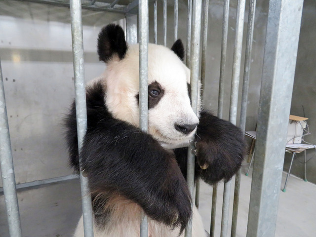
{"label": "galvanized vertical bar crossing the panda's face beside its eye", "polygon": [[[139,2],[139,124],[148,130],[148,0]],[[148,236],[147,216],[142,212],[140,236]]]}

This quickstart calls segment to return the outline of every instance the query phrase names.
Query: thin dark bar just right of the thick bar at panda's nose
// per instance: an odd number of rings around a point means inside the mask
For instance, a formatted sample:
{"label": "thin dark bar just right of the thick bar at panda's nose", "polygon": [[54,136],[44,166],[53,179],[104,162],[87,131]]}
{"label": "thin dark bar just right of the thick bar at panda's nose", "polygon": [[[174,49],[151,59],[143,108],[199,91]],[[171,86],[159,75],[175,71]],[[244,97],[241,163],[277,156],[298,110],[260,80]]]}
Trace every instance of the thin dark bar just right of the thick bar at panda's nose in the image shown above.
{"label": "thin dark bar just right of the thick bar at panda's nose", "polygon": [[[206,71],[206,46],[207,46],[207,24],[208,24],[208,2],[209,0],[203,0],[202,7],[202,56],[201,56],[201,90],[204,89],[205,84],[205,71]],[[200,179],[196,181],[196,206],[199,205],[199,184]]]}

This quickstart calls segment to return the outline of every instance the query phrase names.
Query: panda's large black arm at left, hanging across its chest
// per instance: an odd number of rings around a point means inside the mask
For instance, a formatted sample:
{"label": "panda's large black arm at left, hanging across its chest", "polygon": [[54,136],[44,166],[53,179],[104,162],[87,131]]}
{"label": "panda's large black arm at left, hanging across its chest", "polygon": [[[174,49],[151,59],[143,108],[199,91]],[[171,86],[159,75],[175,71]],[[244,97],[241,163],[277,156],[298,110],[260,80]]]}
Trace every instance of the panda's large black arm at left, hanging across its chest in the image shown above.
{"label": "panda's large black arm at left, hanging across its chest", "polygon": [[[66,119],[67,141],[71,163],[79,171],[74,110],[73,106]],[[137,127],[112,118],[100,83],[87,89],[87,116],[80,155],[91,192],[118,192],[154,220],[184,230],[191,217],[191,197],[174,154]]]}

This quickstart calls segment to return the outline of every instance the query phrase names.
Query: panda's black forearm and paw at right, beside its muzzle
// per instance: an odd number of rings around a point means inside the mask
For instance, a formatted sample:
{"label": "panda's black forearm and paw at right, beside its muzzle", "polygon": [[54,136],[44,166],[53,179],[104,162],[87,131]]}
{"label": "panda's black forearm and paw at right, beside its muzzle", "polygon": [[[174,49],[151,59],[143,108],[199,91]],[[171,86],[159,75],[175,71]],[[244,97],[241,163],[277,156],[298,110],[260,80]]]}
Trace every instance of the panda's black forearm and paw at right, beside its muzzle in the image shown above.
{"label": "panda's black forearm and paw at right, beside its muzzle", "polygon": [[[222,179],[229,181],[243,159],[244,139],[241,130],[231,122],[202,111],[196,141],[196,178],[200,176],[211,185]],[[187,148],[176,149],[174,153],[186,177]]]}

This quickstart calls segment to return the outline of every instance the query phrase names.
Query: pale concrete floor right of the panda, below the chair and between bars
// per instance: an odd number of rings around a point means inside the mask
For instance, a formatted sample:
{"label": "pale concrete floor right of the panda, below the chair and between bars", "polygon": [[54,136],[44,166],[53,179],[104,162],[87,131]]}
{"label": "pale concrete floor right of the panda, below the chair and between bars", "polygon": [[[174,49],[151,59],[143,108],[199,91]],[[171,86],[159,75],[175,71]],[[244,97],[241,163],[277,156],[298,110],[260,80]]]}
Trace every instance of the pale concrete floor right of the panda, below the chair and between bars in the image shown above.
{"label": "pale concrete floor right of the panda, below the chair and between bars", "polygon": [[[248,166],[242,167],[240,197],[237,219],[237,237],[246,237],[248,208],[250,200],[251,173],[245,176]],[[285,172],[282,175],[284,187]],[[235,180],[232,182],[231,194],[234,195]],[[224,184],[218,186],[215,237],[220,236],[221,210]],[[280,187],[281,190],[281,187]],[[210,230],[212,188],[201,183],[199,212],[203,218],[204,228]],[[230,203],[230,223],[228,236],[231,234],[233,198]],[[316,185],[290,175],[286,193],[280,191],[275,237],[316,237]]]}

